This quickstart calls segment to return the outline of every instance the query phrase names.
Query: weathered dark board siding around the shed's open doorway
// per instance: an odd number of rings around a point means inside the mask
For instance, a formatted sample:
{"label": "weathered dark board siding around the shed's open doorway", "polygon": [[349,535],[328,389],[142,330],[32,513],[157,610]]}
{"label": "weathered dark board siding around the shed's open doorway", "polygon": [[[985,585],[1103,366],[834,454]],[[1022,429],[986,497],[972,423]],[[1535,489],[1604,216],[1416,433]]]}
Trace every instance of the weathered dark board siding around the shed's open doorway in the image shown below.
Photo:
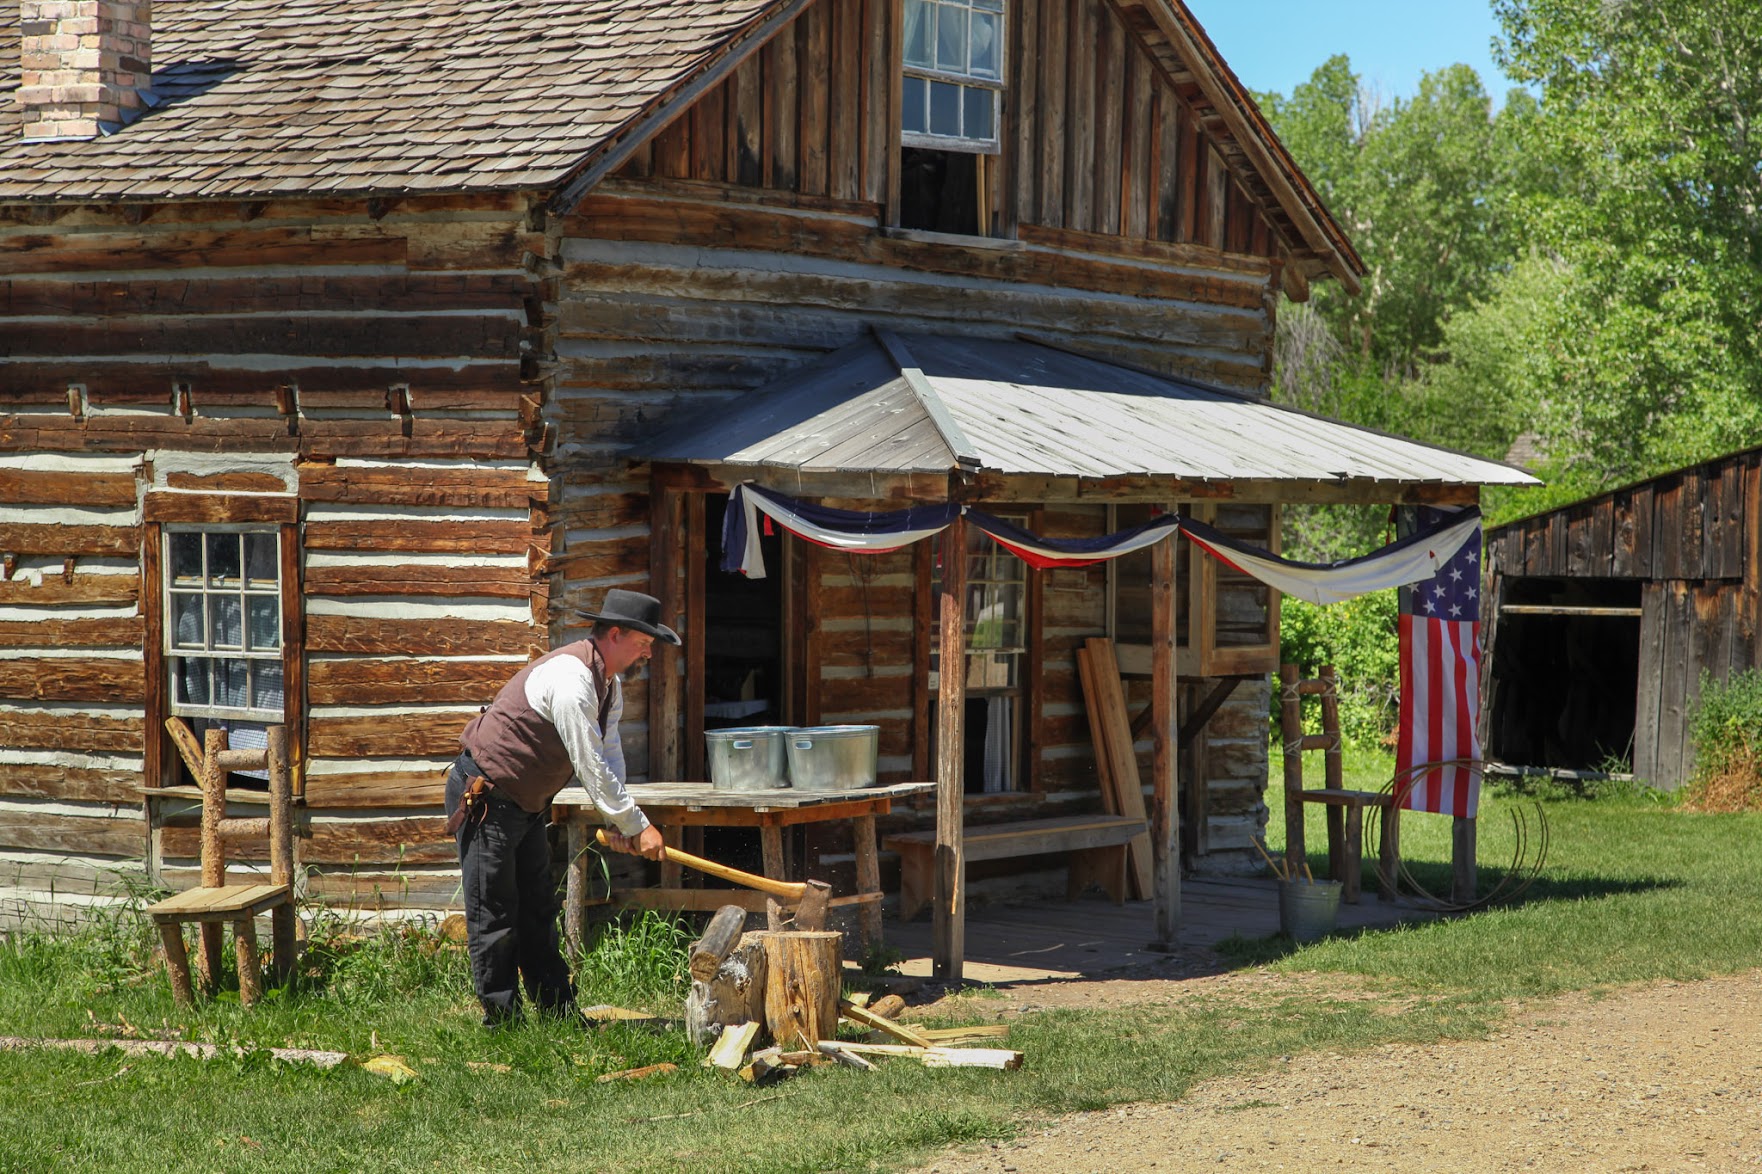
{"label": "weathered dark board siding around the shed's open doorway", "polygon": [[[1750,450],[1487,531],[1496,603],[1522,578],[1639,580],[1633,772],[1658,786],[1693,772],[1702,672],[1762,665],[1758,525],[1762,450]],[[1489,647],[1498,635],[1494,615]]]}

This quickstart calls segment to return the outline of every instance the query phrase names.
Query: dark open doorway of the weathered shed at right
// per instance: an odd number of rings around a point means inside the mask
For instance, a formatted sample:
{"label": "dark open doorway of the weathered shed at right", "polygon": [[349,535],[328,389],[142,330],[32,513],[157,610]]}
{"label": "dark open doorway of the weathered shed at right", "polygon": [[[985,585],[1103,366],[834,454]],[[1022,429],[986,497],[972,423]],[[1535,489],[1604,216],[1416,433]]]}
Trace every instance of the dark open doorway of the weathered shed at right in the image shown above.
{"label": "dark open doorway of the weathered shed at right", "polygon": [[1487,691],[1487,756],[1514,767],[1632,770],[1637,580],[1510,578]]}

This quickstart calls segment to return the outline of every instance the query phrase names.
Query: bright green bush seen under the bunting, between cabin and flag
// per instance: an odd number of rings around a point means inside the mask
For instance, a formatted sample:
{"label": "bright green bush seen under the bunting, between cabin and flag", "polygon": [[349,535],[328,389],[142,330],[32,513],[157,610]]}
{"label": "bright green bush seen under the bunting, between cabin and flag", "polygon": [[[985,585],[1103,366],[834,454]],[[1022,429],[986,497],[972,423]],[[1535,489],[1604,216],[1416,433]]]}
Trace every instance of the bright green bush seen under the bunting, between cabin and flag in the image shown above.
{"label": "bright green bush seen under the bunting, between cabin and flag", "polygon": [[[1322,665],[1339,673],[1339,730],[1353,746],[1374,746],[1396,728],[1401,665],[1396,643],[1396,592],[1376,591],[1344,603],[1279,603],[1279,658],[1306,677]],[[1277,691],[1272,696],[1277,716]],[[1320,728],[1320,702],[1304,698],[1304,724]],[[1309,709],[1316,707],[1316,709]]]}

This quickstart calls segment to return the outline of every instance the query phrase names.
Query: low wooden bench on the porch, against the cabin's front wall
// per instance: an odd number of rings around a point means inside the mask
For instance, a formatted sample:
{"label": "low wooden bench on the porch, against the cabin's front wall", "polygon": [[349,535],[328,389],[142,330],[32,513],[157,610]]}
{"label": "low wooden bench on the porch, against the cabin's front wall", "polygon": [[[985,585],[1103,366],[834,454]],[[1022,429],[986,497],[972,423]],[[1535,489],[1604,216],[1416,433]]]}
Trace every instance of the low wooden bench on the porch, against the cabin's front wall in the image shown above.
{"label": "low wooden bench on the porch, against the cabin's front wall", "polygon": [[[1020,820],[969,827],[962,855],[967,862],[1038,857],[1068,851],[1070,897],[1098,883],[1114,899],[1126,903],[1126,844],[1145,834],[1144,820],[1131,816],[1082,814],[1054,820]],[[936,832],[899,832],[881,841],[899,853],[899,917],[914,918],[936,890]]]}

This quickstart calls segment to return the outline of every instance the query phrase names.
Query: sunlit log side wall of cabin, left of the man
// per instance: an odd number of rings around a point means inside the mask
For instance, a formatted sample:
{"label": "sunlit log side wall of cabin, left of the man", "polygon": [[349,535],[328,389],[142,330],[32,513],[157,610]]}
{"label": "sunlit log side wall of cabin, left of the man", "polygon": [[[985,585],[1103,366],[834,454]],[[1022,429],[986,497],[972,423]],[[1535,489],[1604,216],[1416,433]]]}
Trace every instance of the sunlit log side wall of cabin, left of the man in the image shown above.
{"label": "sunlit log side wall of cabin, left of the man", "polygon": [[523,197],[0,210],[0,917],[197,876],[194,820],[150,843],[136,793],[178,770],[148,724],[160,522],[282,525],[312,892],[453,894],[439,772],[546,643],[527,224]]}

